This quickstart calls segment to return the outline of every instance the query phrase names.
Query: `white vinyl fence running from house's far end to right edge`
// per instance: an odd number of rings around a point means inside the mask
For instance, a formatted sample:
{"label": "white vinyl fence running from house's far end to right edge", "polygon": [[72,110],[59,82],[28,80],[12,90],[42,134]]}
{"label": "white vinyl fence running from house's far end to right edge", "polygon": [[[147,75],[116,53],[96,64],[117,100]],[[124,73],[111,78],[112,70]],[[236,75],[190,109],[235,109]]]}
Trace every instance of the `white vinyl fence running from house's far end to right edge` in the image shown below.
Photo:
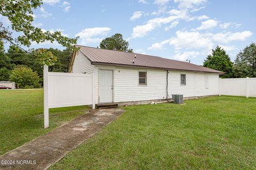
{"label": "white vinyl fence running from house's far end to right edge", "polygon": [[256,97],[256,78],[220,79],[219,94]]}

